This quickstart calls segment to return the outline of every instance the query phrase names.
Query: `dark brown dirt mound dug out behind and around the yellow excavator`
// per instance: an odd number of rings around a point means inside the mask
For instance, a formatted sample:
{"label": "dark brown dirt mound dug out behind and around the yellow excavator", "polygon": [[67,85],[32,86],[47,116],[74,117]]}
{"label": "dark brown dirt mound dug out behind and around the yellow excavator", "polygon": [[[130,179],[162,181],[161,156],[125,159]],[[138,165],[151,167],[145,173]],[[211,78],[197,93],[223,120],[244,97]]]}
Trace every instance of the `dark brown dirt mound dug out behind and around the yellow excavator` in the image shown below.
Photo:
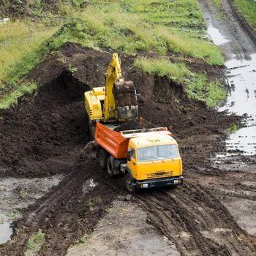
{"label": "dark brown dirt mound dug out behind and around the yellow excavator", "polygon": [[[104,85],[110,59],[110,53],[68,43],[31,70],[28,78],[40,84],[37,94],[23,97],[15,108],[0,112],[1,176],[50,175],[72,165],[89,141],[83,93]],[[233,122],[232,117],[225,118],[225,124],[218,122],[221,113],[190,101],[170,80],[130,69],[132,62],[129,56],[122,59],[124,78],[135,83],[141,94],[139,115],[151,123],[172,127],[182,138],[209,118],[208,129],[201,132]],[[122,127],[137,128],[140,125]]]}

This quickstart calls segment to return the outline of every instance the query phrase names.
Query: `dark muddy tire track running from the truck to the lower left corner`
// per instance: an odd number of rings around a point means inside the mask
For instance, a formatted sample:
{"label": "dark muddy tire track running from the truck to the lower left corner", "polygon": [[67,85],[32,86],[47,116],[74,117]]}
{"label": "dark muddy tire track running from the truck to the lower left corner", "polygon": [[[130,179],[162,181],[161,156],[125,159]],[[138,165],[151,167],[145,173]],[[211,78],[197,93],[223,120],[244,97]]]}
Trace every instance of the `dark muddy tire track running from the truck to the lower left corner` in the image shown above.
{"label": "dark muddy tire track running from the truck to the lower left corner", "polygon": [[[97,184],[94,189],[88,184],[85,186],[89,178]],[[105,214],[105,208],[122,191],[118,182],[116,184],[117,187],[110,187],[109,178],[97,167],[96,159],[76,163],[69,176],[30,206],[22,219],[13,223],[12,240],[0,245],[0,255],[24,255],[29,237],[39,228],[45,233],[39,255],[66,255],[76,239],[91,233]],[[94,198],[97,201],[94,202]]]}

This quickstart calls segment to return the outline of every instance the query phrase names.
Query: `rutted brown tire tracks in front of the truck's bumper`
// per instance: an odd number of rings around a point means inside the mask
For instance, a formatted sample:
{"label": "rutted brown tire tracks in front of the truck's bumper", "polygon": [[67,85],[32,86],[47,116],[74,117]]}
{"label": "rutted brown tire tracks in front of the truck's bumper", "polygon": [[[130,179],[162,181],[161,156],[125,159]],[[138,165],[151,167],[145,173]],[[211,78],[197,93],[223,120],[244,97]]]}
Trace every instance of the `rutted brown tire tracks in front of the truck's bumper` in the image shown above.
{"label": "rutted brown tire tracks in front of the truck's bumper", "polygon": [[175,242],[181,255],[255,255],[249,236],[206,189],[187,184],[136,195],[150,222]]}

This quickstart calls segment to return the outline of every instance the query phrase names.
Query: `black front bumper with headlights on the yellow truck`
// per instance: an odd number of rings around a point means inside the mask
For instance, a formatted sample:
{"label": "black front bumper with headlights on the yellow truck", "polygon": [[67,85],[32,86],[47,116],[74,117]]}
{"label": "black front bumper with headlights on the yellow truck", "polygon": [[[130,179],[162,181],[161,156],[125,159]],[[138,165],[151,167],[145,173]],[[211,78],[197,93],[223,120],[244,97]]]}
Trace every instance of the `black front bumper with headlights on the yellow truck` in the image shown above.
{"label": "black front bumper with headlights on the yellow truck", "polygon": [[164,187],[171,185],[178,185],[183,183],[183,176],[171,177],[171,178],[157,178],[146,181],[134,181],[135,187],[138,189],[148,189],[150,187]]}

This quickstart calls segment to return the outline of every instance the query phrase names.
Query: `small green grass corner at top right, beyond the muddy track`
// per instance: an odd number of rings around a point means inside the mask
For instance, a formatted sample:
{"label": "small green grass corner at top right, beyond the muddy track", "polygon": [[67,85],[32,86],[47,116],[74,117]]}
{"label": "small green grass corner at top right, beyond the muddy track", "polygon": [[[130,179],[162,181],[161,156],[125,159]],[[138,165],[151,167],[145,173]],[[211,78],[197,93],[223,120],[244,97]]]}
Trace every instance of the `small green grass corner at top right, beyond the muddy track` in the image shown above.
{"label": "small green grass corner at top right, beyond the muddy track", "polygon": [[256,2],[253,0],[234,0],[238,12],[244,16],[250,26],[256,31]]}

